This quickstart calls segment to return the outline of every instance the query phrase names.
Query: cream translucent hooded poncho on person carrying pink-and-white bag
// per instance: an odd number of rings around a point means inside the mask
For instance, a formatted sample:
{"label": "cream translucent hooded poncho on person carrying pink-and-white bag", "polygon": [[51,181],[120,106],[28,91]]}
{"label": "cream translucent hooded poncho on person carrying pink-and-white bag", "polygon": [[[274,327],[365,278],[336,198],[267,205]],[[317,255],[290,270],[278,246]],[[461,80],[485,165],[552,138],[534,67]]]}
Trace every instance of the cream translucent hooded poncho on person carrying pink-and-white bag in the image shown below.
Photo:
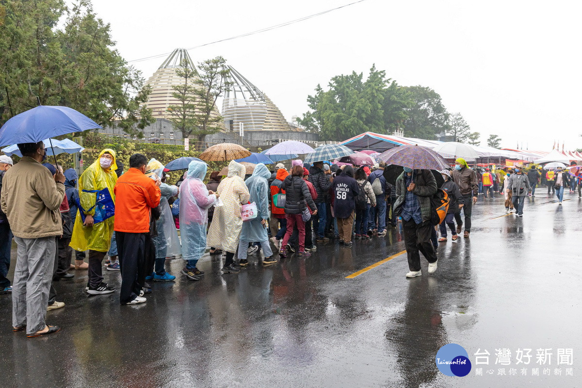
{"label": "cream translucent hooded poncho on person carrying pink-and-white bag", "polygon": [[239,246],[243,219],[240,216],[242,204],[249,202],[249,189],[244,184],[245,168],[232,161],[228,165],[228,176],[218,185],[223,206],[214,208],[214,218],[208,230],[207,244],[226,252],[234,253]]}

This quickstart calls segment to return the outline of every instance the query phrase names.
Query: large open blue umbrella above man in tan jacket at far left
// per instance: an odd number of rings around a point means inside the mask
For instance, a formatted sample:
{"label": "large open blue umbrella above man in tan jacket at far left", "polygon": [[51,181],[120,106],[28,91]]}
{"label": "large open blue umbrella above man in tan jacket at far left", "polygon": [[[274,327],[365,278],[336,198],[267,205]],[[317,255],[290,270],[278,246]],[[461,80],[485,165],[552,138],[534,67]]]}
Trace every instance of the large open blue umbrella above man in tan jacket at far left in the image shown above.
{"label": "large open blue umbrella above man in tan jacket at far left", "polygon": [[93,120],[66,106],[37,106],[8,120],[0,128],[0,147],[37,143],[54,136],[101,129]]}

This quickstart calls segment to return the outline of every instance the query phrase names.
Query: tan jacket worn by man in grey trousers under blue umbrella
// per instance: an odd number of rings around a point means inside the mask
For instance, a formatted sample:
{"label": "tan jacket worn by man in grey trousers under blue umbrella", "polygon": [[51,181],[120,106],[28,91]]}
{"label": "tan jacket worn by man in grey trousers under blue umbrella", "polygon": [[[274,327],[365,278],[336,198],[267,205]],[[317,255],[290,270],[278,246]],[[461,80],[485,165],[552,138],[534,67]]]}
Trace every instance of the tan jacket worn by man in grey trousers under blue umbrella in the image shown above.
{"label": "tan jacket worn by man in grey trousers under blue umbrella", "polygon": [[63,198],[65,185],[56,183],[51,172],[29,156],[24,156],[4,174],[0,205],[16,237],[61,236],[59,207]]}

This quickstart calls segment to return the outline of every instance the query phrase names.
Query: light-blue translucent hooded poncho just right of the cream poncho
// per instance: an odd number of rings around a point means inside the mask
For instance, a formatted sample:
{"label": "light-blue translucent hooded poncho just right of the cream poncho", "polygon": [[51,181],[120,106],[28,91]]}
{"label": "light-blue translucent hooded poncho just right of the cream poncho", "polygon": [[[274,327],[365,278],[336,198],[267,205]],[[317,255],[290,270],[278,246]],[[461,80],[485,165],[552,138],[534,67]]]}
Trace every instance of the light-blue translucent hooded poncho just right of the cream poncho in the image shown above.
{"label": "light-blue translucent hooded poncho just right of the cream poncho", "polygon": [[257,204],[257,218],[243,222],[243,229],[240,232],[240,240],[248,241],[265,241],[267,229],[261,225],[261,220],[269,218],[269,184],[268,179],[271,172],[262,163],[258,163],[253,171],[253,175],[247,179],[244,184],[249,188],[250,202]]}

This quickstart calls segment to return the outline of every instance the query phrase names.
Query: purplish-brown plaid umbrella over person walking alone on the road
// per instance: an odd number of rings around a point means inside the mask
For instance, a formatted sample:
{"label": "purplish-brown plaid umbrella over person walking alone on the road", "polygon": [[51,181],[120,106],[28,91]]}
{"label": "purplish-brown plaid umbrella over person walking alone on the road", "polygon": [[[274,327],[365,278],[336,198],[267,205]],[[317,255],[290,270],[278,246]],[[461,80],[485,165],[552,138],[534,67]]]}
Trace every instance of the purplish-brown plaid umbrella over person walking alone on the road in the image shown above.
{"label": "purplish-brown plaid umbrella over person walking alone on the road", "polygon": [[386,164],[411,169],[444,170],[450,168],[445,159],[427,147],[420,145],[400,145],[378,156]]}

